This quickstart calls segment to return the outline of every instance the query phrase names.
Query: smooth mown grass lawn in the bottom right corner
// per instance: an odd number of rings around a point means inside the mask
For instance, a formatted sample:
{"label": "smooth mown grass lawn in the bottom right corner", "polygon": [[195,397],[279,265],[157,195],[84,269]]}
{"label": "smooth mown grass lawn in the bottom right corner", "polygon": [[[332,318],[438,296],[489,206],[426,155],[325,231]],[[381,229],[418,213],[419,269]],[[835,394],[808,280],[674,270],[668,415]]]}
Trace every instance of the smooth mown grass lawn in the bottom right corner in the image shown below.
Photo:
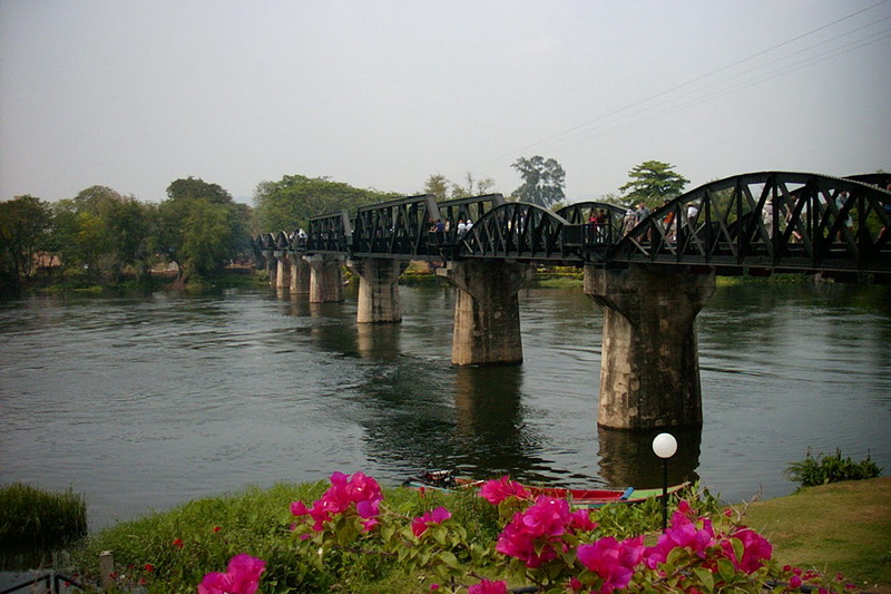
{"label": "smooth mown grass lawn in the bottom right corner", "polygon": [[891,594],[891,477],[756,502],[745,523],[773,544],[780,563],[842,573],[866,591]]}

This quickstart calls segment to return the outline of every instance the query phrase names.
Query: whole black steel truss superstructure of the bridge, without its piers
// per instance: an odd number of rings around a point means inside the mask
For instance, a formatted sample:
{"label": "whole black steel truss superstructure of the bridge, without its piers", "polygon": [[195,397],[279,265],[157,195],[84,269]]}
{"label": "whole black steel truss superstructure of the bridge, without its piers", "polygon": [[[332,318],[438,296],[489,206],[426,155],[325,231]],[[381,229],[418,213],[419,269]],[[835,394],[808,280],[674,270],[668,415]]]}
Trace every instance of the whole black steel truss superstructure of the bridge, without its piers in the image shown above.
{"label": "whole black steel truss superstructure of the bridge, without its piers", "polygon": [[[716,274],[799,272],[891,282],[891,174],[845,178],[763,172],[687,192],[640,222],[599,202],[551,212],[500,194],[430,195],[310,220],[309,233],[265,233],[261,252],[352,259],[509,260],[550,265],[684,265]],[[605,214],[603,224],[589,223]],[[459,236],[458,222],[471,221]],[[434,231],[441,221],[444,230]]]}

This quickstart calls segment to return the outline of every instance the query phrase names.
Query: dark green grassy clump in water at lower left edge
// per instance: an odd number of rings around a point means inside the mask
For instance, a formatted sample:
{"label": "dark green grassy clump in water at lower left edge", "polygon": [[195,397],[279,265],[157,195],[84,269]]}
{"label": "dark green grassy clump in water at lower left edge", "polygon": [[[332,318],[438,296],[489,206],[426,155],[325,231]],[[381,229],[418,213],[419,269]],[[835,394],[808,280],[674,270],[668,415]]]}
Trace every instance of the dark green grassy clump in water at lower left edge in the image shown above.
{"label": "dark green grassy clump in water at lower left edge", "polygon": [[71,489],[0,488],[0,546],[61,545],[86,532],[87,503]]}

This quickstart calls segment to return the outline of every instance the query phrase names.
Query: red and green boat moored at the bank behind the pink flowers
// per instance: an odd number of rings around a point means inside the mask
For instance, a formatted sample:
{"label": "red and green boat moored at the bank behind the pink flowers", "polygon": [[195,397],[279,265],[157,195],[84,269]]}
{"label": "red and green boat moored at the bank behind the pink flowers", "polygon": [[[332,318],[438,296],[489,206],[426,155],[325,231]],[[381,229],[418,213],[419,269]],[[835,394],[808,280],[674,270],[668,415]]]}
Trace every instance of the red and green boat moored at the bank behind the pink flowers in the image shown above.
{"label": "red and green boat moored at the bank behind the pink flowers", "polygon": [[[403,486],[417,489],[464,490],[479,488],[484,483],[484,480],[471,480],[457,477],[451,470],[425,470],[418,476],[407,479]],[[667,494],[673,495],[678,493],[688,485],[689,483],[672,485],[668,487]],[[645,502],[650,497],[660,498],[663,496],[662,487],[654,489],[638,489],[635,487],[627,487],[625,489],[571,489],[536,485],[522,485],[522,487],[529,493],[532,499],[539,495],[547,495],[556,499],[566,499],[575,507],[603,507],[607,504],[633,505]]]}

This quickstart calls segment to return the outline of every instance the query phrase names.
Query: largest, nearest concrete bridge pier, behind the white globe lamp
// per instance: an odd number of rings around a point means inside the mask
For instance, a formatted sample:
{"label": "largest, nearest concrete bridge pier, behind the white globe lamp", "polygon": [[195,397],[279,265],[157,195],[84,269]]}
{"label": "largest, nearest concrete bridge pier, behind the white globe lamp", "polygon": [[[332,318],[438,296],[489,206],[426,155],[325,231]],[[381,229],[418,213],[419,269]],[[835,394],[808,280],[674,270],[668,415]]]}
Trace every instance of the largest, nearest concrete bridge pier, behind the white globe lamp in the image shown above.
{"label": "largest, nearest concrete bridge pier, behind the white globe lamp", "polygon": [[597,425],[702,427],[695,320],[714,292],[714,272],[585,266],[585,294],[604,309]]}

